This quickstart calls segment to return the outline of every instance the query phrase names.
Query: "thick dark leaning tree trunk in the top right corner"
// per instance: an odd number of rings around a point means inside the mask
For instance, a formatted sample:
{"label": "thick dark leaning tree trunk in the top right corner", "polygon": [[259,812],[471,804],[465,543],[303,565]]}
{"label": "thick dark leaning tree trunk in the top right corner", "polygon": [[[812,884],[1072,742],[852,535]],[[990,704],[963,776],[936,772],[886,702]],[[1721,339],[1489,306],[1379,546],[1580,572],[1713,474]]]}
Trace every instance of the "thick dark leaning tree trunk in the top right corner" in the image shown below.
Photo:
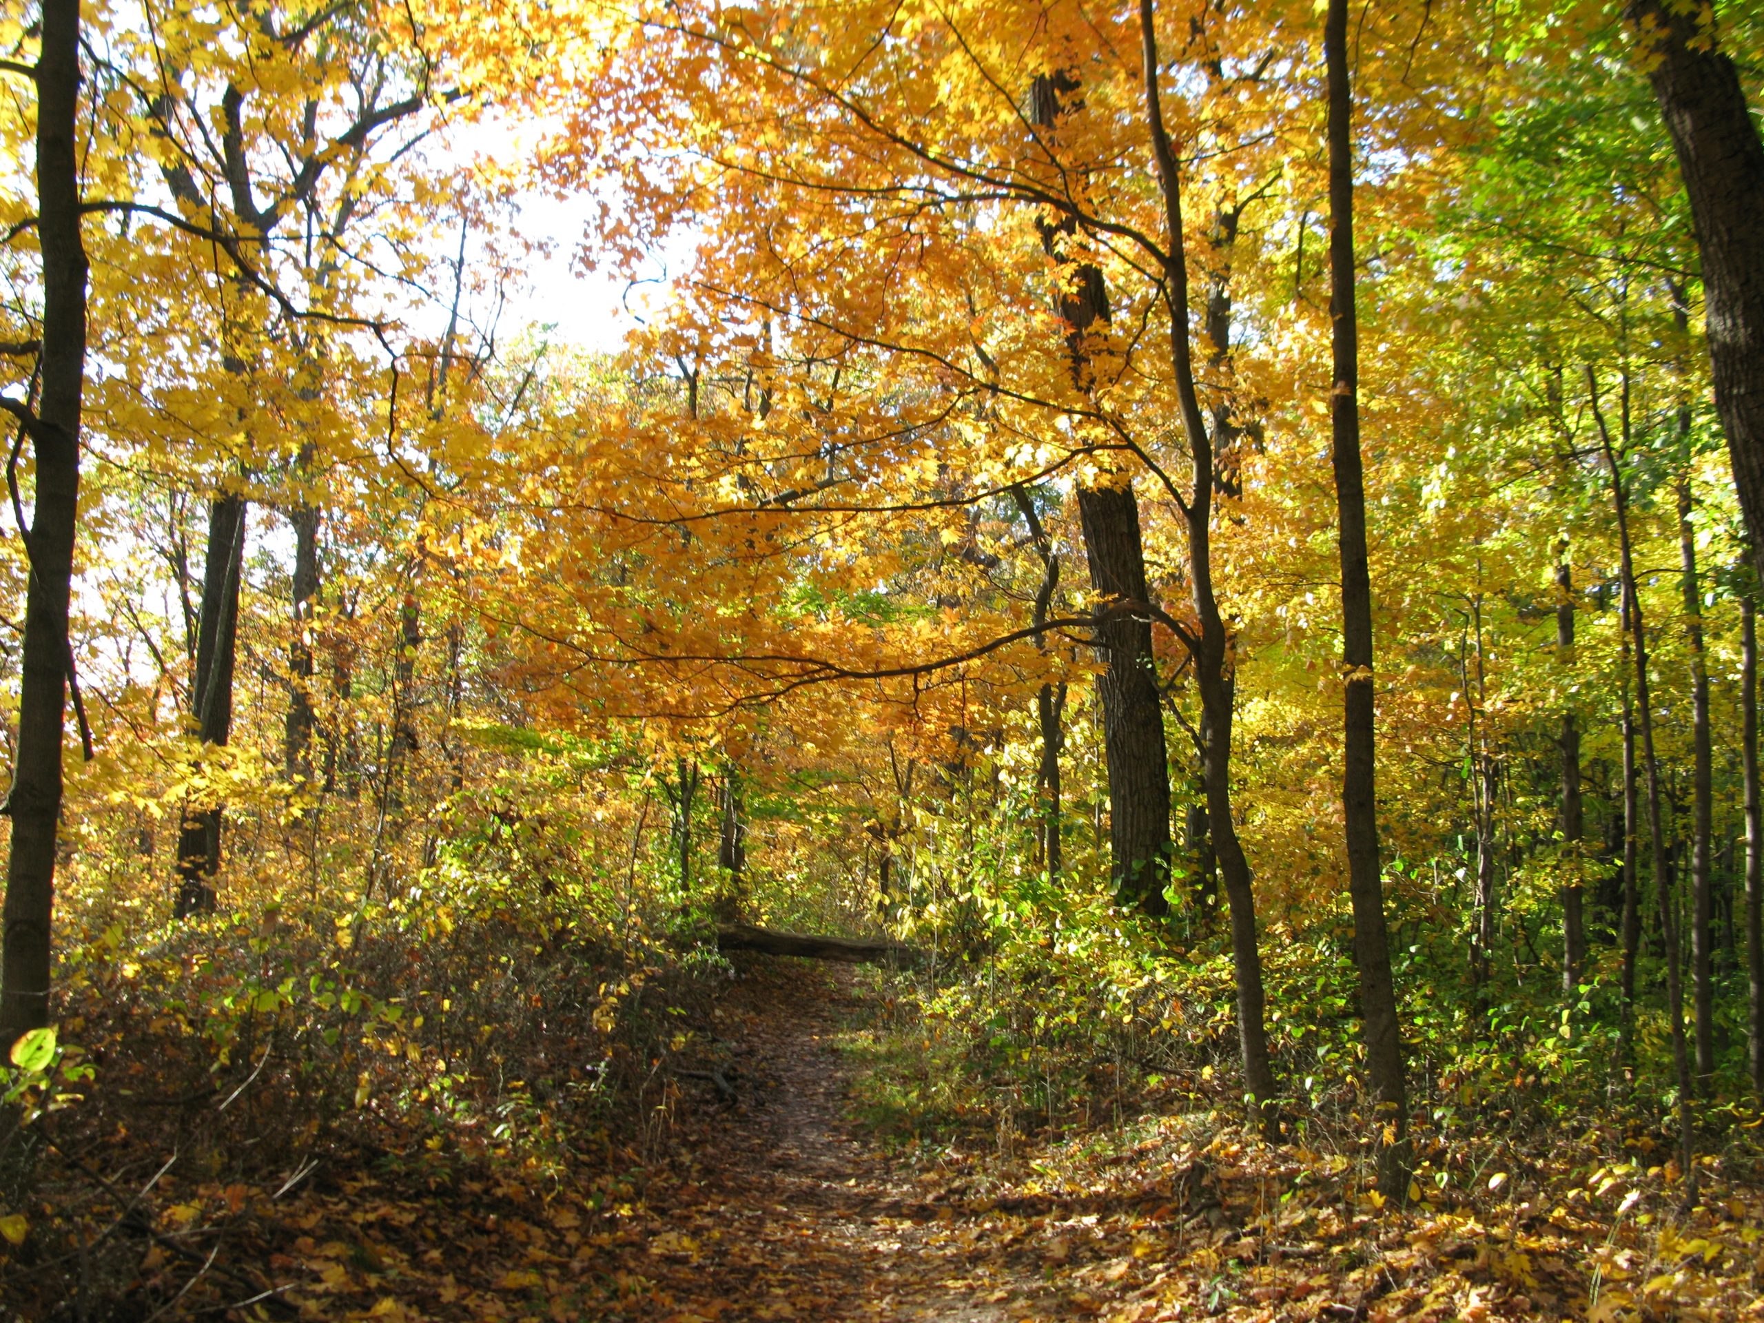
{"label": "thick dark leaning tree trunk in the top right corner", "polygon": [[[1711,25],[1704,26],[1709,14]],[[1764,557],[1764,139],[1708,5],[1630,0],[1702,254],[1715,409],[1753,563]]]}

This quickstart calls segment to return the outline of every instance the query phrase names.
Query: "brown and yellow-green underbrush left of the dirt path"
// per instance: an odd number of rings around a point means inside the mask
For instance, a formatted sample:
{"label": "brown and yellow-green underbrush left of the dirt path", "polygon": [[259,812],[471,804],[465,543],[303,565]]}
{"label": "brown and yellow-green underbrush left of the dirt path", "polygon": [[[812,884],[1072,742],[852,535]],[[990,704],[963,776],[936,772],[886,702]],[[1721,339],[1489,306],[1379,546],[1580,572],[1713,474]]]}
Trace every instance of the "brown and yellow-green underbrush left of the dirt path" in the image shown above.
{"label": "brown and yellow-green underbrush left of the dirt path", "polygon": [[[85,908],[58,1037],[7,1080],[11,1316],[323,1318],[270,1286],[273,1256],[305,1238],[344,1274],[386,1270],[376,1198],[453,1191],[476,1215],[568,1185],[575,1219],[637,1198],[727,965],[676,908],[603,914],[612,891],[441,863],[344,912]],[[425,1235],[445,1244],[445,1219]]]}

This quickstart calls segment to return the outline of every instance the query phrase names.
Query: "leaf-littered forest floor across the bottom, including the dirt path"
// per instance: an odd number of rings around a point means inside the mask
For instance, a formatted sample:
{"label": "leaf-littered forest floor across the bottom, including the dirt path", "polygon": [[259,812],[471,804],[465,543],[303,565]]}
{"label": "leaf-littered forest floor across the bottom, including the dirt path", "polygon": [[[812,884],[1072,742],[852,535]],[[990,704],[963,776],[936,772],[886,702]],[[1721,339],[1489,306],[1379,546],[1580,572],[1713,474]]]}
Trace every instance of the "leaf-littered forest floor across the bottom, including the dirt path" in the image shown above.
{"label": "leaf-littered forest floor across the bottom, including the dirt path", "polygon": [[658,1080],[667,1115],[610,1164],[418,1141],[298,1187],[180,1182],[146,1258],[118,1261],[162,1312],[106,1318],[1764,1319],[1764,1198],[1720,1166],[1683,1215],[1662,1168],[1559,1140],[1397,1210],[1353,1152],[1265,1145],[1217,1110],[891,1145],[859,1118],[887,1071],[861,975],[753,960],[706,1014]]}

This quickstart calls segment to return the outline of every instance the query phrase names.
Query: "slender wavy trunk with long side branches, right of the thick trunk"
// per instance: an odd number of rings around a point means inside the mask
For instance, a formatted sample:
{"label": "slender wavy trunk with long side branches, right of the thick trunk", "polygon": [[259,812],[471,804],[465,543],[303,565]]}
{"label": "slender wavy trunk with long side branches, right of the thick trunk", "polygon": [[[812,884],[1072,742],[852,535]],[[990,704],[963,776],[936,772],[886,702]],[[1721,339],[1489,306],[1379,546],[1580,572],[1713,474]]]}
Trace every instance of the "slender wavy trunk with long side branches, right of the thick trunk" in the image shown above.
{"label": "slender wavy trunk with long side branches, right of the thick trunk", "polygon": [[[1175,148],[1164,131],[1159,90],[1157,26],[1154,0],[1140,0],[1140,37],[1145,56],[1145,109],[1164,199],[1164,310],[1170,318],[1170,365],[1177,402],[1189,441],[1191,490],[1182,505],[1189,542],[1189,600],[1200,633],[1184,642],[1194,662],[1194,684],[1201,695],[1201,780],[1207,789],[1207,827],[1226,903],[1231,907],[1231,967],[1237,981],[1237,1032],[1244,1058],[1244,1083],[1256,1118],[1270,1136],[1279,1132],[1274,1099],[1279,1087],[1268,1060],[1267,1005],[1261,981],[1261,949],[1256,935],[1256,893],[1249,857],[1237,836],[1231,806],[1231,718],[1235,676],[1228,670],[1230,639],[1212,580],[1214,445],[1194,388],[1194,349],[1189,340],[1189,266],[1182,231],[1182,178]],[[1171,496],[1177,496],[1171,492]],[[1180,497],[1178,497],[1180,501]],[[1168,811],[1166,811],[1168,827]]]}

